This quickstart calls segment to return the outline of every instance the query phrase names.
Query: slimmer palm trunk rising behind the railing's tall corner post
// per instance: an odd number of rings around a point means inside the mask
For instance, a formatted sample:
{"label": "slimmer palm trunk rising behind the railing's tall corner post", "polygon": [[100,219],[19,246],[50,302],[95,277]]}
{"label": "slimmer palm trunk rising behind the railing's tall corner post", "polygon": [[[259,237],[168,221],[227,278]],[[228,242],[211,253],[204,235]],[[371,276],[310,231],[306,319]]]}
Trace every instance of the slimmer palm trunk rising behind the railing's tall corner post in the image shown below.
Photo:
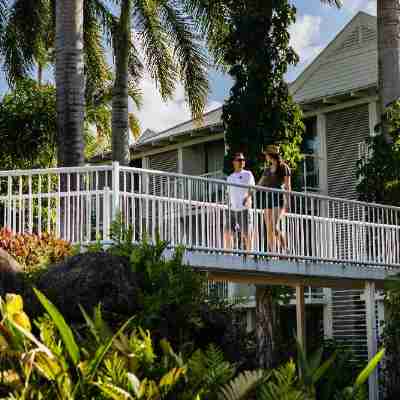
{"label": "slimmer palm trunk rising behind the railing's tall corner post", "polygon": [[112,158],[129,165],[128,62],[131,43],[131,0],[121,2],[117,38],[114,40],[115,83],[112,101]]}

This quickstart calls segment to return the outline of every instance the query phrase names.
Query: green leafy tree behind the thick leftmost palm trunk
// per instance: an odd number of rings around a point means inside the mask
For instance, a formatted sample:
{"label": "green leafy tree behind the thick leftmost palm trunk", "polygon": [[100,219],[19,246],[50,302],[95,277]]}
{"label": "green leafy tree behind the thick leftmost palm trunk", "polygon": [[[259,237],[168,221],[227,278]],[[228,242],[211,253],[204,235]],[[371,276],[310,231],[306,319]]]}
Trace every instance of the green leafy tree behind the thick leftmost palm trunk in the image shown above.
{"label": "green leafy tree behind the thick leftmost palm trunk", "polygon": [[[48,168],[56,165],[56,93],[52,85],[19,79],[0,102],[3,169]],[[111,109],[87,106],[85,153],[91,157],[110,148]]]}

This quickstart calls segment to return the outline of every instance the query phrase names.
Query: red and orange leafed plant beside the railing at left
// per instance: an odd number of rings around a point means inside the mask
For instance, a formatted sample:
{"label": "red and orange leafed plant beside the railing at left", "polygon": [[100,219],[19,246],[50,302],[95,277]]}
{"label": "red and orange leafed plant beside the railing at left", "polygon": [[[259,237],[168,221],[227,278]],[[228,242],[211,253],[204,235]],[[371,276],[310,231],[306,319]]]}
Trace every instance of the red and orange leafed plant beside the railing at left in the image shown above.
{"label": "red and orange leafed plant beside the railing at left", "polygon": [[72,253],[69,242],[48,233],[16,234],[8,228],[0,229],[0,248],[7,251],[28,271],[62,261]]}

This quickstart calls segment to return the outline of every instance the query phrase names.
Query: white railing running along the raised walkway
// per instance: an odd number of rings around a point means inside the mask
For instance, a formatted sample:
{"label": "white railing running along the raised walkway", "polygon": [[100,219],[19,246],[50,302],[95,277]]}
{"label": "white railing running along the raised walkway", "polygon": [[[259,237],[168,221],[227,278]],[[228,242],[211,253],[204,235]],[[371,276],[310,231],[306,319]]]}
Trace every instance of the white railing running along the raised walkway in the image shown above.
{"label": "white railing running along the raised walkway", "polygon": [[[247,188],[252,197],[249,234],[234,232],[231,238],[227,233],[235,215],[227,200],[233,187],[245,188],[116,163],[3,171],[0,224],[16,232],[46,231],[72,242],[89,242],[108,240],[111,221],[121,212],[124,223],[133,227],[135,241],[160,237],[171,246],[205,252],[400,267],[400,208]],[[265,224],[271,209],[283,203],[288,212],[280,229],[287,245],[273,240]],[[239,216],[243,218],[247,216]]]}

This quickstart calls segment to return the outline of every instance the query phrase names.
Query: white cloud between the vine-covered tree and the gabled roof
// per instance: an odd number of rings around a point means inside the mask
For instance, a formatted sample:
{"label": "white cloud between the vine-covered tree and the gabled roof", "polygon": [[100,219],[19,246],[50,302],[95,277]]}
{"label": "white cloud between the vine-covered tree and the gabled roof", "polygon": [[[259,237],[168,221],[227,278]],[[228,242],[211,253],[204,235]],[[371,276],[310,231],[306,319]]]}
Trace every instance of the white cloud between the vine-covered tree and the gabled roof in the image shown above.
{"label": "white cloud between the vine-covered tree and the gabled roof", "polygon": [[290,28],[290,44],[300,56],[301,64],[311,61],[321,51],[321,24],[322,17],[306,14]]}

